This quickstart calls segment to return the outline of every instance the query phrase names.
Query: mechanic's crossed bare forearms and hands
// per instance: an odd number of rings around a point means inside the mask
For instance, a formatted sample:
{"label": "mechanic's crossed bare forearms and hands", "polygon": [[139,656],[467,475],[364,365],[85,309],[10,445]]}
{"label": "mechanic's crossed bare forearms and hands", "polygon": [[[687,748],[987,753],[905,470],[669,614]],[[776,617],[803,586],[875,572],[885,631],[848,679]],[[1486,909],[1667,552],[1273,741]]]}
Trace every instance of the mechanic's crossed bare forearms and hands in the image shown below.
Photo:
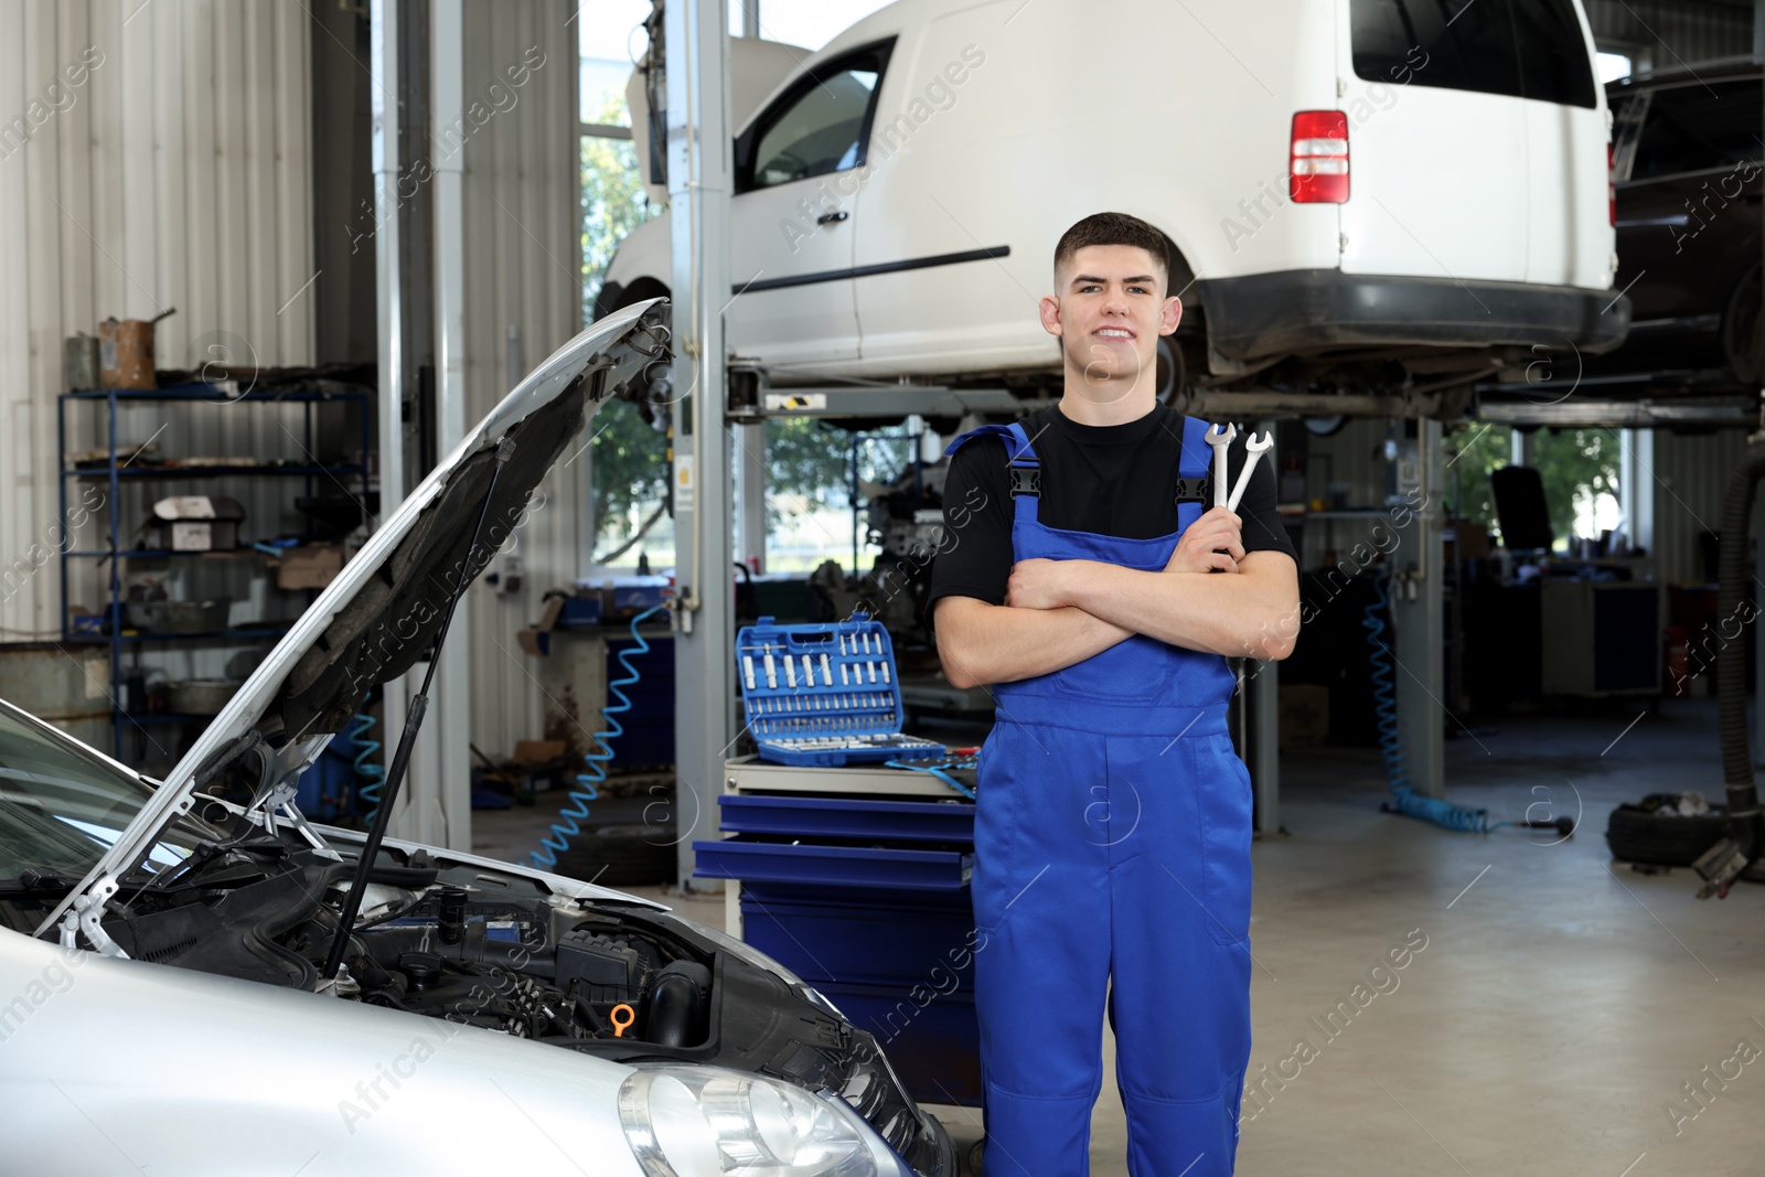
{"label": "mechanic's crossed bare forearms and hands", "polygon": [[[1220,570],[1225,575],[1213,575]],[[1020,559],[1006,602],[944,596],[937,653],[955,686],[1052,674],[1145,633],[1230,658],[1285,658],[1299,630],[1299,570],[1287,552],[1244,552],[1239,517],[1214,506],[1161,572],[1094,559]]]}

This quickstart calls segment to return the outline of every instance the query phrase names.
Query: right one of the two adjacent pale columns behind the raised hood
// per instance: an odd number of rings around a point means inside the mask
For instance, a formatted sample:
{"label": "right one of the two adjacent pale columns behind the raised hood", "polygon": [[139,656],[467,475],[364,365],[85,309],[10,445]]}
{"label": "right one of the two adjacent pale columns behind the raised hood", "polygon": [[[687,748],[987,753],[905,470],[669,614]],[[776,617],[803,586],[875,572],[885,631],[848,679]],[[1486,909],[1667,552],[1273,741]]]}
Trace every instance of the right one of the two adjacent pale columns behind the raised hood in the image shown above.
{"label": "right one of the two adjacent pale columns behind the raised hood", "polygon": [[[464,0],[432,0],[429,9],[431,127],[447,127],[464,111]],[[436,459],[466,436],[466,219],[461,185],[464,148],[434,155],[431,231],[434,251]],[[501,536],[491,536],[494,542]],[[469,588],[464,591],[471,591]],[[461,602],[441,644],[441,665],[429,688],[429,718],[406,782],[409,838],[455,851],[471,849],[471,611]],[[422,771],[418,771],[418,768]]]}

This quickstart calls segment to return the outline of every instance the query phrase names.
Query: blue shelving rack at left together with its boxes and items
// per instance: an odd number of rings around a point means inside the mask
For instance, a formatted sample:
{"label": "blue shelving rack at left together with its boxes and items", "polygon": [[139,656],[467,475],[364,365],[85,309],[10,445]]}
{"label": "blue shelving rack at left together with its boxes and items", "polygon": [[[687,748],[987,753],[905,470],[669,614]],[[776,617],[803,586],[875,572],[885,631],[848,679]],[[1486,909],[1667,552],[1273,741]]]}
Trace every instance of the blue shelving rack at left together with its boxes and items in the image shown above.
{"label": "blue shelving rack at left together with its boxes and items", "polygon": [[[124,415],[145,404],[185,406],[185,415],[192,409],[201,413],[205,404],[237,406],[228,408],[231,413],[293,406],[297,413],[284,413],[284,418],[298,416],[298,425],[279,420],[286,439],[277,439],[275,448],[293,443],[298,454],[161,455],[155,438],[162,436],[169,422],[143,443],[122,443],[120,434],[131,431]],[[319,420],[325,411],[339,416]],[[346,552],[341,544],[321,540],[327,533],[355,526],[348,519],[344,524],[337,522],[339,503],[355,522],[367,519],[372,510],[371,416],[372,392],[365,386],[316,381],[311,376],[291,376],[279,383],[274,371],[244,392],[237,381],[219,381],[60,394],[62,639],[109,646],[113,686],[108,693],[115,755],[124,757],[124,734],[131,729],[207,723],[224,706],[231,693],[228,686],[237,686],[238,681],[229,667],[219,678],[198,674],[169,681],[164,692],[150,697],[146,671],[141,669],[145,649],[224,651],[226,646],[258,646],[259,655],[254,656],[261,656],[261,648],[281,639],[307,602],[300,602],[288,616],[263,616],[282,611],[268,609],[268,595],[258,589],[258,581],[274,574],[279,591],[311,591],[323,588],[337,574]],[[71,452],[71,438],[90,438],[94,432],[102,438],[101,445]],[[215,445],[212,438],[226,436],[228,431],[219,422],[201,422],[171,436],[180,432]],[[164,448],[173,446],[168,443]],[[321,452],[327,455],[321,457]],[[328,461],[337,457],[342,461]],[[251,480],[235,484],[242,487],[238,494],[263,501],[267,491],[281,485],[274,480],[284,478],[304,485],[304,496],[293,501],[307,517],[304,535],[247,540],[242,535],[247,524],[245,506],[221,491],[231,489],[229,480]],[[191,485],[180,487],[180,482]],[[155,496],[161,484],[164,492]],[[97,577],[81,572],[83,568],[95,568]],[[178,593],[192,582],[221,575],[221,570],[231,570],[233,577],[240,572],[251,577],[251,596],[259,602],[259,616],[235,618],[233,598],[224,593]],[[76,581],[81,582],[78,589]],[[95,591],[101,607],[83,609],[74,600],[76,591]],[[169,600],[173,595],[191,598]],[[124,665],[125,651],[134,663],[132,672]],[[196,655],[185,662],[194,665]],[[235,662],[249,663],[251,656]],[[182,699],[187,706],[171,706],[173,699]]]}

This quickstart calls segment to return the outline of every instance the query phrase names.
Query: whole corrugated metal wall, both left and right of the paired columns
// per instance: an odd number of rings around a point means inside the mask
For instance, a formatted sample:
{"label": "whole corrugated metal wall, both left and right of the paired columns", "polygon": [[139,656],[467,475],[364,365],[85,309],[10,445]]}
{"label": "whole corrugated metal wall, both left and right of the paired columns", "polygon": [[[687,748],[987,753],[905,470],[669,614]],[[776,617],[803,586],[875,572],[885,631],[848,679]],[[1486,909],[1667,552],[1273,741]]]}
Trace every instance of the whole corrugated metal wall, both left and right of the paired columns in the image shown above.
{"label": "whole corrugated metal wall, both left and right of the paired columns", "polygon": [[[477,101],[491,111],[464,145],[466,416],[475,422],[512,374],[581,330],[581,176],[575,5],[473,0],[466,21],[468,108]],[[28,561],[56,522],[65,335],[92,332],[106,316],[176,307],[159,325],[161,367],[198,365],[219,355],[214,346],[263,365],[314,362],[305,288],[314,277],[312,35],[293,4],[0,9],[0,556],[9,565]],[[535,67],[537,55],[544,64]],[[83,65],[79,85],[69,65]],[[519,86],[507,72],[515,65],[530,69]],[[164,425],[166,454],[293,457],[298,418],[279,415],[139,406],[122,416],[118,436],[145,441]],[[99,420],[90,415],[71,445],[102,443]],[[214,487],[189,487],[203,489]],[[277,517],[286,498],[286,485],[249,496],[252,535],[295,526]],[[508,752],[542,734],[535,667],[514,633],[538,616],[544,589],[588,563],[586,501],[586,462],[577,461],[554,475],[526,528],[522,593],[471,595],[480,748]],[[125,505],[129,519],[141,512],[145,501]],[[205,581],[203,591],[245,596],[244,577],[233,579],[240,584]],[[56,586],[55,559],[0,586],[0,637],[58,633]],[[71,598],[97,605],[97,593],[88,579]],[[173,671],[221,672],[212,662]]]}

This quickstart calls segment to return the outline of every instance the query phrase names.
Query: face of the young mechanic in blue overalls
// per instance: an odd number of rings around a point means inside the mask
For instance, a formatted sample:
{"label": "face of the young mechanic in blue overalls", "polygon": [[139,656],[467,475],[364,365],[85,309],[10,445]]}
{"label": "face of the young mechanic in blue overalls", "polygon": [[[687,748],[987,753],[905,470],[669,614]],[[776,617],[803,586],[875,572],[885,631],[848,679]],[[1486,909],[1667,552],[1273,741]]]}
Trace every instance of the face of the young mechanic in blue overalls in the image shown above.
{"label": "face of the young mechanic in blue overalls", "polygon": [[1138,245],[1085,245],[1041,300],[1041,325],[1061,337],[1070,372],[1115,395],[1151,385],[1158,337],[1177,330],[1183,304],[1165,295],[1165,266]]}

